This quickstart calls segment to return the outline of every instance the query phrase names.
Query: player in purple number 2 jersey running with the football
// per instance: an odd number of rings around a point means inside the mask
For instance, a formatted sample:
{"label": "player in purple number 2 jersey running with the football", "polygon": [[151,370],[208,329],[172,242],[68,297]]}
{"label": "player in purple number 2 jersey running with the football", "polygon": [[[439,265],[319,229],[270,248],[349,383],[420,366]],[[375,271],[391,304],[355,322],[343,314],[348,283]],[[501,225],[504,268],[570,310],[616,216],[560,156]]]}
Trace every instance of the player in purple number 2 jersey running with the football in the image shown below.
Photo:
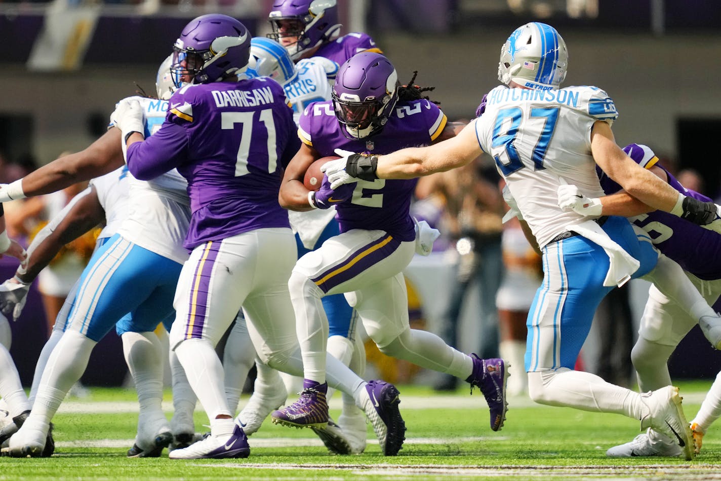
{"label": "player in purple number 2 jersey running with the football", "polygon": [[[328,321],[322,298],[345,293],[381,352],[478,386],[489,402],[491,428],[499,430],[506,411],[503,360],[465,355],[435,334],[410,329],[402,270],[416,252],[418,236],[425,235],[416,233],[409,215],[416,181],[354,178],[335,190],[325,181],[319,191],[303,183],[309,165],[336,149],[370,155],[440,142],[453,135],[446,116],[421,98],[417,87],[399,87],[387,58],[362,52],[340,67],[333,100],[306,108],[298,134],[303,145],[286,169],[280,204],[299,211],[335,205],[340,234],[293,268],[288,285],[303,353],[304,391],[298,401],[273,412],[273,421],[301,427],[327,421]],[[398,393],[386,386],[378,394],[386,399]]]}

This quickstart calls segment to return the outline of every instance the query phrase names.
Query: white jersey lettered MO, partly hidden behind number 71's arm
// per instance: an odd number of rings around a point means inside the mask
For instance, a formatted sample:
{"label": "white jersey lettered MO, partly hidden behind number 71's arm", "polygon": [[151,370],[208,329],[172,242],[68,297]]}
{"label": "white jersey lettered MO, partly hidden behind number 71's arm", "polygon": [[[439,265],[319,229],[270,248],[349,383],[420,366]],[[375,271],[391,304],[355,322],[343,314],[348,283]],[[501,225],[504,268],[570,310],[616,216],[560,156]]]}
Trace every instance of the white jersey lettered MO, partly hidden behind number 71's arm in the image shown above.
{"label": "white jersey lettered MO, partly hidden behind number 71's arm", "polygon": [[[136,97],[145,112],[145,136],[154,134],[165,120],[167,100]],[[173,169],[152,181],[138,181],[128,173],[128,216],[118,229],[123,238],[156,254],[183,263],[182,246],[190,223],[187,181]]]}

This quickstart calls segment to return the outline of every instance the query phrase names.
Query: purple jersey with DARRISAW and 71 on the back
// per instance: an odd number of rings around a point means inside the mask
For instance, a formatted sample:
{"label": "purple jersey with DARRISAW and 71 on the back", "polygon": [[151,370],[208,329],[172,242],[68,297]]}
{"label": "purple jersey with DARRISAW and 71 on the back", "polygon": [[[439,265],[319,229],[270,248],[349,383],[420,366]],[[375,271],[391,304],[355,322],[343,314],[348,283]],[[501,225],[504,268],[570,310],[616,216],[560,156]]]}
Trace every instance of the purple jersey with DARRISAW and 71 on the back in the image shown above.
{"label": "purple jersey with DARRISAW and 71 on the back", "polygon": [[141,180],[172,168],[187,179],[193,217],[186,248],[287,228],[278,190],[300,146],[295,131],[293,110],[273,80],[187,85],[171,97],[159,131],[128,147],[128,168]]}

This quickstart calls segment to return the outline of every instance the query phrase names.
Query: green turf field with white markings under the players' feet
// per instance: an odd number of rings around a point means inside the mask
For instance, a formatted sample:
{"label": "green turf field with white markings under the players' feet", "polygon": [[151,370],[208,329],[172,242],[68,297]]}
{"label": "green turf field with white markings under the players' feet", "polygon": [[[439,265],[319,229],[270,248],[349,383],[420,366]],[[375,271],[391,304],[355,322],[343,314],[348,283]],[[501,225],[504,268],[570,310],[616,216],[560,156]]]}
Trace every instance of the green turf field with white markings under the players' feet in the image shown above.
{"label": "green turf field with white markings under the players' feet", "polygon": [[[680,386],[684,409],[691,419],[709,383]],[[415,386],[399,389],[408,428],[399,456],[381,456],[370,426],[371,442],[364,454],[333,456],[311,430],[266,421],[249,438],[248,459],[217,461],[126,458],[125,451],[135,436],[135,394],[121,389],[92,389],[88,399],[68,399],[56,415],[57,448],[52,458],[0,458],[0,480],[721,479],[721,423],[709,430],[702,454],[694,462],[680,458],[609,459],[606,449],[630,441],[639,433],[638,423],[620,415],[510,399],[505,427],[493,433],[485,400],[478,391],[469,397],[467,389],[444,395]],[[334,412],[337,415],[337,409],[332,409]],[[200,408],[195,421],[198,431],[205,430],[202,425],[208,421]]]}

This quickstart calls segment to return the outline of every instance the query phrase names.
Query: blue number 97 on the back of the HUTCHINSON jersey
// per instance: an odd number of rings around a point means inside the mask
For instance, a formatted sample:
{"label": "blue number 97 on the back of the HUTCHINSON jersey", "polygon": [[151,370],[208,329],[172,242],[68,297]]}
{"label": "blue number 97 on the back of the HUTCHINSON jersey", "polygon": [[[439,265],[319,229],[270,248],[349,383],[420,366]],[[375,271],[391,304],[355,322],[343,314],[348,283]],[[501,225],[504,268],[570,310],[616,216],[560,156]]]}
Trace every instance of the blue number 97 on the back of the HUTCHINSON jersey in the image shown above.
{"label": "blue number 97 on the back of the HUTCHINSON jersey", "polygon": [[[553,131],[556,129],[556,123],[558,122],[558,110],[557,107],[535,107],[531,108],[531,115],[528,116],[529,121],[531,118],[539,118],[543,121],[541,134],[531,154],[536,170],[544,168],[544,157],[546,157],[548,144],[551,142]],[[493,148],[493,158],[503,175],[514,173],[516,170],[523,168],[523,160],[521,160],[521,156],[518,155],[518,150],[514,145],[518,136],[518,127],[521,126],[521,120],[523,120],[523,110],[519,107],[498,110],[491,147]],[[499,147],[503,148],[499,150]]]}

